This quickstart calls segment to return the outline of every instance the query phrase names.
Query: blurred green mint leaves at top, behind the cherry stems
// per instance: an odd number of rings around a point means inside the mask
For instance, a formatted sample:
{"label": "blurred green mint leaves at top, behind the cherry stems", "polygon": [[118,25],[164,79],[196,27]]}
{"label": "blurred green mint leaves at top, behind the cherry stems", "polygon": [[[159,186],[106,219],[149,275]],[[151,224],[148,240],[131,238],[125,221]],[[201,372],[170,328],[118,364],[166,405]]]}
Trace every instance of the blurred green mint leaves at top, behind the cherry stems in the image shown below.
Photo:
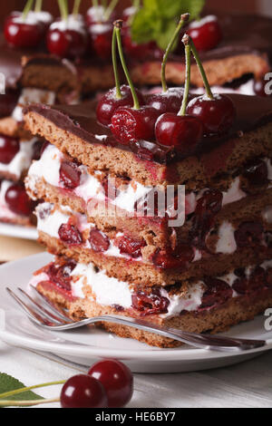
{"label": "blurred green mint leaves at top, behind the cherry stems", "polygon": [[199,19],[205,0],[143,0],[135,15],[131,37],[136,43],[156,42],[165,50],[180,15],[189,13],[190,20]]}

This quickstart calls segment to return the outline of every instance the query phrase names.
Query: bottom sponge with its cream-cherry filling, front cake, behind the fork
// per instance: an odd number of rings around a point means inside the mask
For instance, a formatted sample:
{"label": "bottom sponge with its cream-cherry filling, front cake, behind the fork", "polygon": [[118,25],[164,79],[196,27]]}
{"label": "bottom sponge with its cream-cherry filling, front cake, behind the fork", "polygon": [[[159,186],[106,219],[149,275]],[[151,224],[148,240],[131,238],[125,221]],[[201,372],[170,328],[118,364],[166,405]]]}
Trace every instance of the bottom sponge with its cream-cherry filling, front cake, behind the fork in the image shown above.
{"label": "bottom sponge with its cream-cherry filling, front cake, behind the fork", "polygon": [[[30,284],[69,309],[74,319],[96,315],[129,315],[192,333],[226,331],[253,319],[272,304],[271,260],[209,276],[187,286],[139,290],[111,278],[92,264],[67,257],[35,272]],[[180,343],[127,326],[103,323],[107,331],[159,347]]]}

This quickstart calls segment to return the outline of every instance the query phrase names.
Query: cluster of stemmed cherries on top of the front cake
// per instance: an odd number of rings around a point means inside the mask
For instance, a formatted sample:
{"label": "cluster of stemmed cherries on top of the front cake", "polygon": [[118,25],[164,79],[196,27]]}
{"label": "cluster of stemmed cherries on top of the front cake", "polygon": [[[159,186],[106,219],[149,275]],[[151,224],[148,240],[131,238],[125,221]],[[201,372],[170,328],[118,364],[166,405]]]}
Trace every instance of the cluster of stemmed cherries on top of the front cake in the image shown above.
{"label": "cluster of stemmed cherries on top of the front cake", "polygon": [[[122,45],[122,22],[114,23],[112,36],[112,62],[116,87],[107,92],[98,103],[97,120],[104,126],[110,127],[113,135],[121,144],[131,145],[138,140],[157,140],[160,145],[174,147],[180,156],[189,156],[210,136],[220,137],[229,131],[236,118],[236,109],[227,95],[213,95],[210,91],[207,76],[199,60],[199,55],[189,35],[186,40],[187,67],[190,67],[190,52],[195,56],[207,90],[207,94],[194,99],[189,95],[189,79],[187,74],[185,89],[168,89],[165,77],[171,45],[175,42],[182,25],[189,19],[189,14],[182,15],[180,24],[173,35],[170,45],[164,55],[161,78],[162,91],[144,97],[131,82],[127,69]],[[118,44],[123,71],[129,85],[120,87],[117,59],[114,57],[114,43]],[[185,42],[184,42],[185,43]],[[189,104],[188,104],[189,101]],[[181,108],[180,108],[181,107]]]}

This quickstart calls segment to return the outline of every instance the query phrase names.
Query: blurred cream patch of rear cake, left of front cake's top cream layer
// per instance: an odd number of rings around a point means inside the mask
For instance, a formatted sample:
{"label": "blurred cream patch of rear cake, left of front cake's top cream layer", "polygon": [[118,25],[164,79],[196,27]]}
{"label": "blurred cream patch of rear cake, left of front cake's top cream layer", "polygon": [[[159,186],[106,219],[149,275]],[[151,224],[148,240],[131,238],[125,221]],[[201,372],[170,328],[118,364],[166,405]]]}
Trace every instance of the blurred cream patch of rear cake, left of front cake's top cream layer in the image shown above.
{"label": "blurred cream patch of rear cake, left of front cake's top cream layer", "polygon": [[27,170],[31,165],[34,154],[34,143],[36,141],[37,138],[20,140],[20,150],[10,163],[4,164],[0,162],[0,171],[10,173],[16,179],[20,179],[23,171]]}

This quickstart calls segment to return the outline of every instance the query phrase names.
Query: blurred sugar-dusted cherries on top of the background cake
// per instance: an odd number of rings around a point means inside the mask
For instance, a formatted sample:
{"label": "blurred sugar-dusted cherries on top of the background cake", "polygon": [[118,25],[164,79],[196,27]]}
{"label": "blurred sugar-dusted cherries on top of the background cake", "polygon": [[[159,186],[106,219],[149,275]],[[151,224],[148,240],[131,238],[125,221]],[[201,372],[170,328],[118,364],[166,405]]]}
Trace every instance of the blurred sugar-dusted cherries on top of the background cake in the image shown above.
{"label": "blurred sugar-dusted cherries on top of the background cake", "polygon": [[[62,18],[53,22],[53,16],[41,10],[32,11],[34,0],[28,0],[23,13],[13,12],[5,20],[5,38],[15,47],[34,48],[46,38],[50,53],[61,57],[79,58],[86,53],[95,53],[99,58],[109,59],[112,53],[112,22],[116,19],[114,2],[109,6],[93,5],[85,16],[79,14],[79,5],[73,15],[68,15],[67,3],[63,2]],[[126,53],[132,58],[141,59],[152,55],[162,57],[155,42],[137,44],[131,40],[131,22],[137,8],[131,6],[123,10],[123,36]],[[199,50],[214,48],[222,38],[219,22],[215,16],[203,19],[189,26],[189,34]]]}

